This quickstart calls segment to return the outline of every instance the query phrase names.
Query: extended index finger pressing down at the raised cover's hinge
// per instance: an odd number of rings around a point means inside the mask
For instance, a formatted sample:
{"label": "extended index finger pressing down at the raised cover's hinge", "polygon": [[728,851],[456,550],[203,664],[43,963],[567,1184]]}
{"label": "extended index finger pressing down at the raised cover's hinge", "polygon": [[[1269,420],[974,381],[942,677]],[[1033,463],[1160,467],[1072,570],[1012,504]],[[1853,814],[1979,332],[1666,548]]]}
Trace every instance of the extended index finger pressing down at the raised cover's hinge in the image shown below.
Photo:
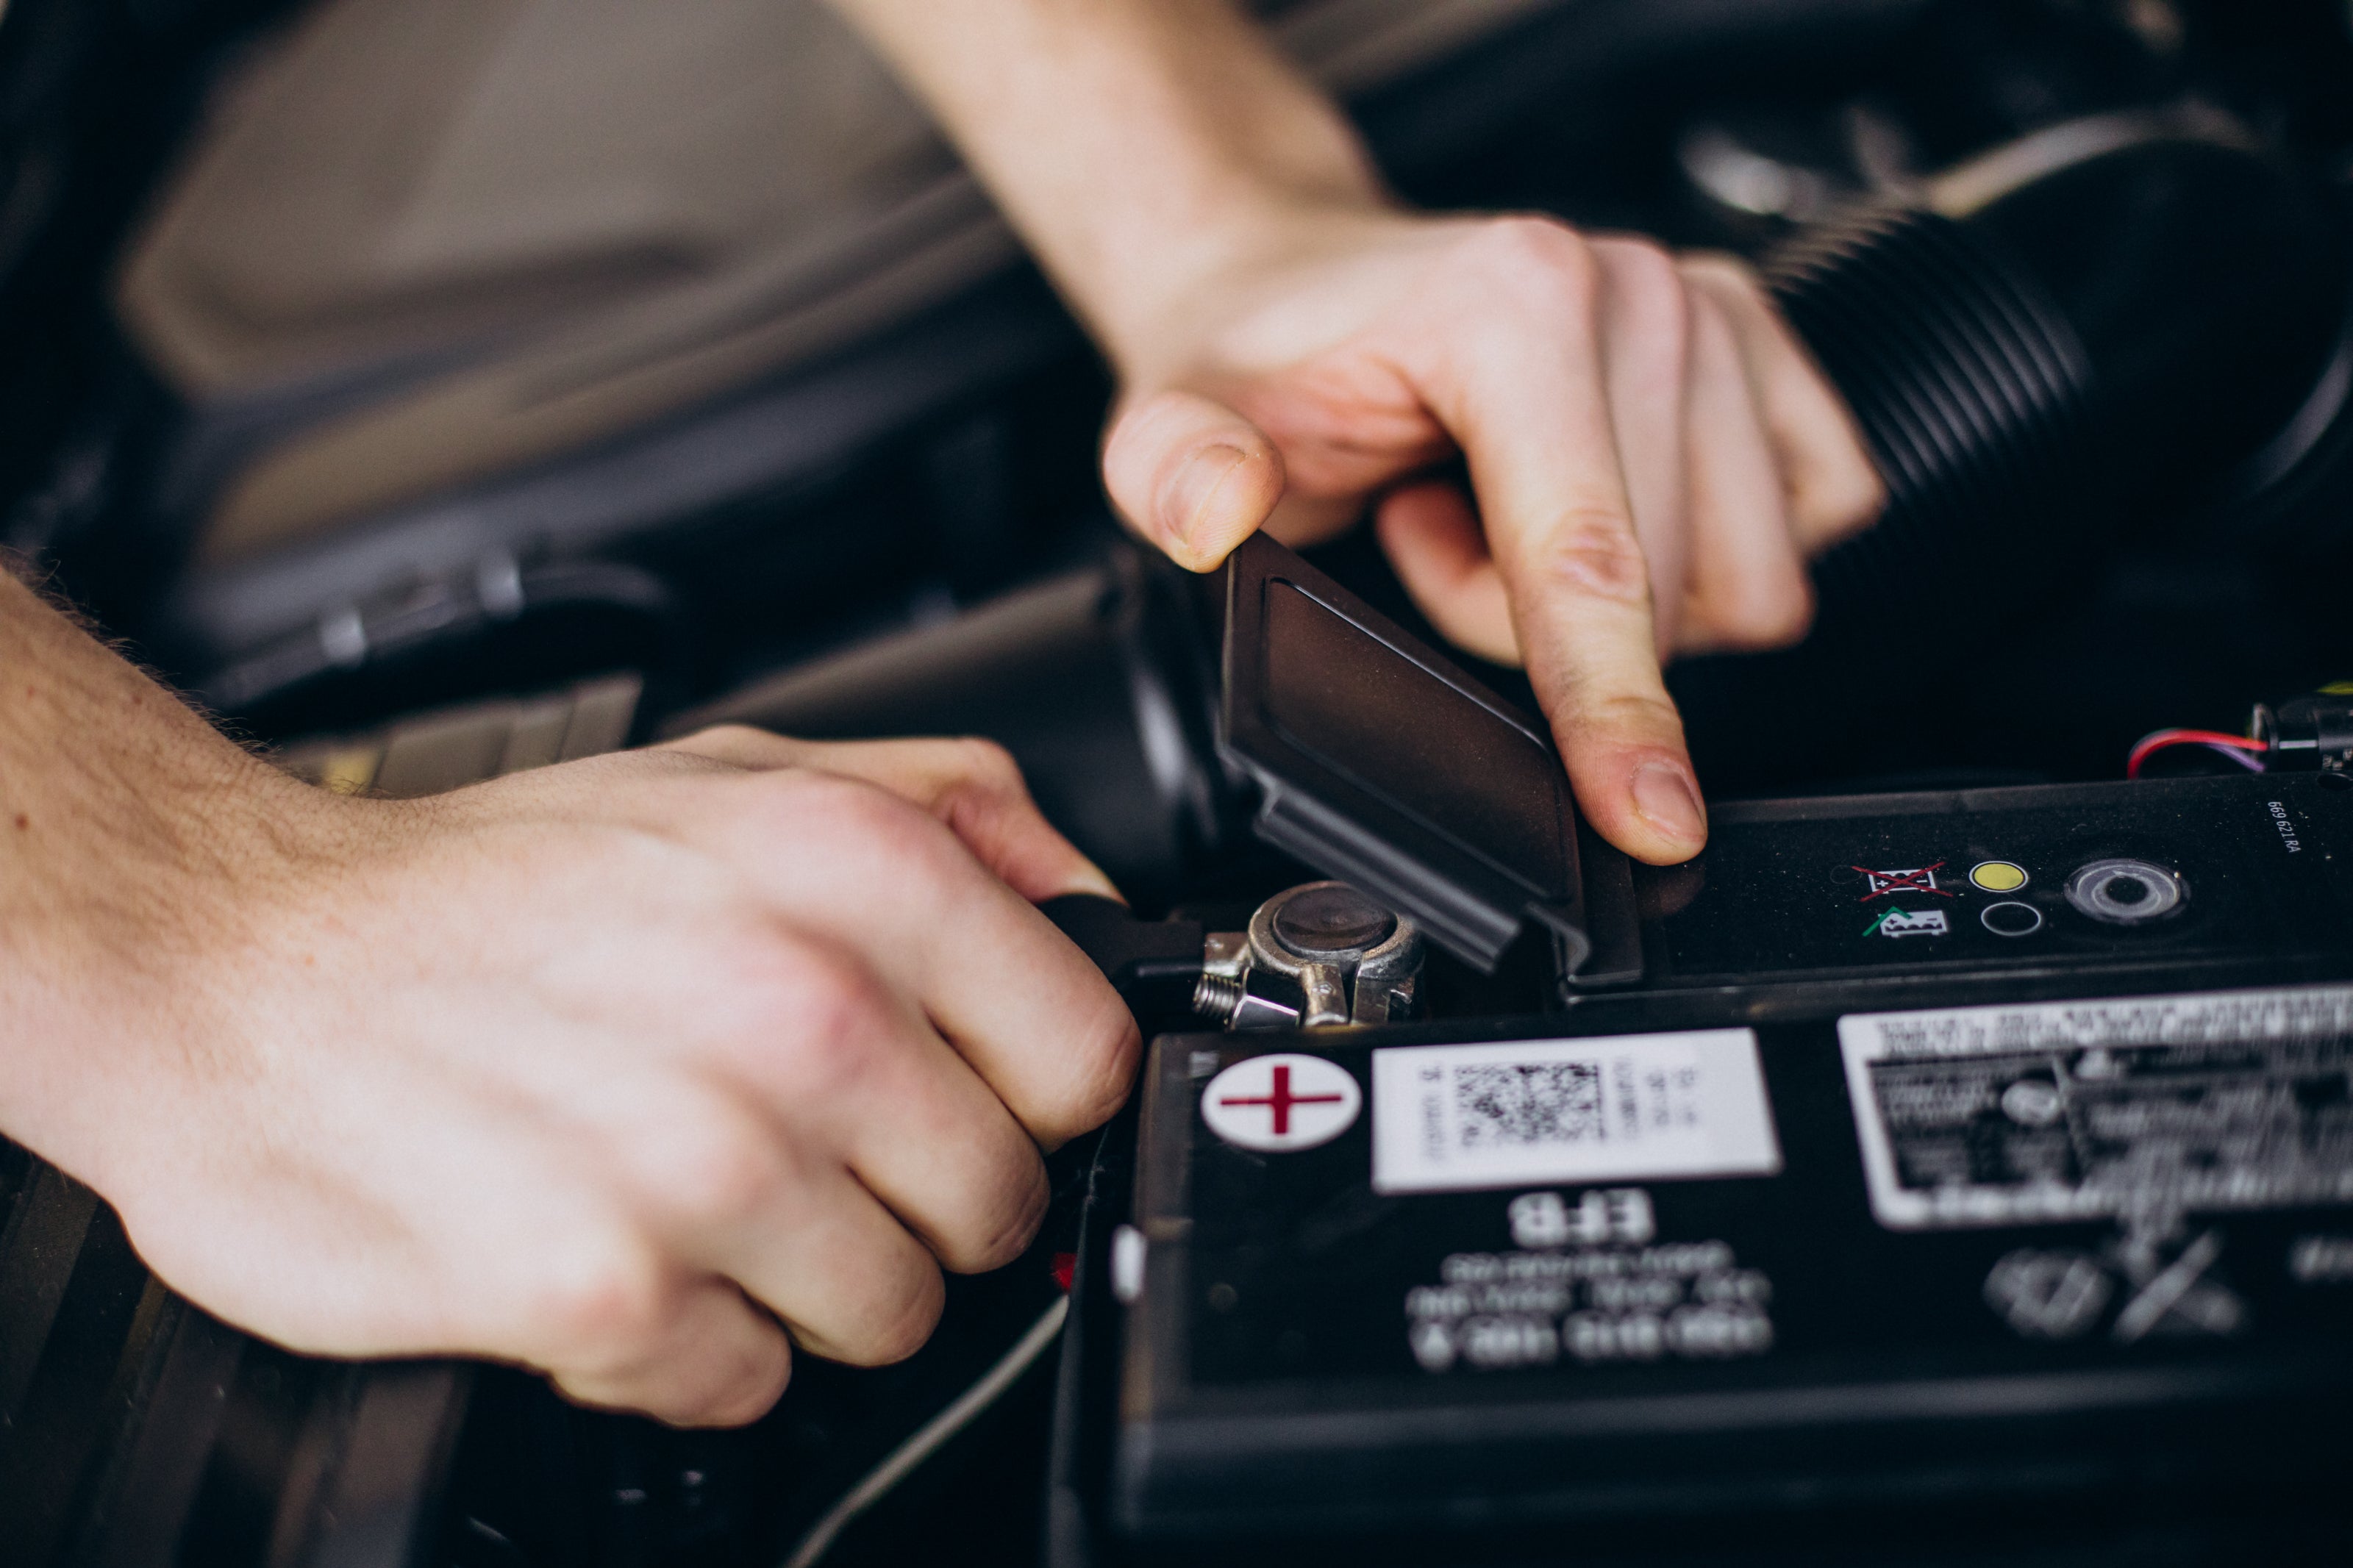
{"label": "extended index finger pressing down at the raised cover's hinge", "polygon": [[1607,282],[1572,230],[1487,226],[1402,341],[1471,463],[1513,630],[1586,818],[1626,853],[1699,853],[1706,816],[1659,672],[1652,585],[1612,418]]}

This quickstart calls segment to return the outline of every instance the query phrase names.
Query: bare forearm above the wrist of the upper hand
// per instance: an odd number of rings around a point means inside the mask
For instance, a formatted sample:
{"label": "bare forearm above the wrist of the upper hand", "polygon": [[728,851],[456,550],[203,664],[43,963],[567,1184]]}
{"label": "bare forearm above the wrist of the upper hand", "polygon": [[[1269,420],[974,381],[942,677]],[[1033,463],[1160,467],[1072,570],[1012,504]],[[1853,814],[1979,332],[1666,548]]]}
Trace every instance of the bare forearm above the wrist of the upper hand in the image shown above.
{"label": "bare forearm above the wrist of the upper hand", "polygon": [[1372,212],[1348,122],[1228,0],[833,0],[1129,371],[1207,275]]}

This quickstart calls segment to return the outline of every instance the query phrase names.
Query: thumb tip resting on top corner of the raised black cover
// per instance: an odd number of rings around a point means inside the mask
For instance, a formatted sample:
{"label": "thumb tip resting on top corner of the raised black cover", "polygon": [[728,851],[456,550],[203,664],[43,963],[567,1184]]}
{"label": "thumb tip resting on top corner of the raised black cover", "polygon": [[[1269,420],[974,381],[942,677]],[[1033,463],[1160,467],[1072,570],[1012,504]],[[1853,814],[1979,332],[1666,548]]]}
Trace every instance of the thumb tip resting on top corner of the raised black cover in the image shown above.
{"label": "thumb tip resting on top corner of the raised black cover", "polygon": [[1282,454],[1221,402],[1148,393],[1111,421],[1104,489],[1169,559],[1209,571],[1275,510]]}

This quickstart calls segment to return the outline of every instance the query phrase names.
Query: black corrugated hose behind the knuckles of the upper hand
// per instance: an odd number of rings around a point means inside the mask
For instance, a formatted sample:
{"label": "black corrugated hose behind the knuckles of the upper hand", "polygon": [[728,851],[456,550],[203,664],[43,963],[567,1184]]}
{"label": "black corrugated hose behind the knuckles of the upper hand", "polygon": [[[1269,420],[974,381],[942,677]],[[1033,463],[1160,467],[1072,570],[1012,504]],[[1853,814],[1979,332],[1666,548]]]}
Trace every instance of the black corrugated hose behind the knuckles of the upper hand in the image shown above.
{"label": "black corrugated hose behind the knuckles of the upper hand", "polygon": [[2217,484],[2313,393],[2348,282],[2294,169],[2162,120],[2054,127],[1769,275],[1889,489],[1868,548],[1826,564],[1842,592],[1889,585],[1873,555],[2033,548],[2071,510]]}

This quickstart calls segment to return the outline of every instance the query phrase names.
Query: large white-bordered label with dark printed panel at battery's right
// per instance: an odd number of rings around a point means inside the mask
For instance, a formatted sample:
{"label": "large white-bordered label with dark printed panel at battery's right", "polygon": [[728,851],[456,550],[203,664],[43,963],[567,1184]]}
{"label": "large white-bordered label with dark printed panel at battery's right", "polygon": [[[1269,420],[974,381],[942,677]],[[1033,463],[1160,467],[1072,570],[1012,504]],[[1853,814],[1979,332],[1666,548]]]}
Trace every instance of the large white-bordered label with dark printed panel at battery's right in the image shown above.
{"label": "large white-bordered label with dark printed panel at battery's right", "polygon": [[2353,1201],[2353,985],[1838,1020],[1892,1229]]}

